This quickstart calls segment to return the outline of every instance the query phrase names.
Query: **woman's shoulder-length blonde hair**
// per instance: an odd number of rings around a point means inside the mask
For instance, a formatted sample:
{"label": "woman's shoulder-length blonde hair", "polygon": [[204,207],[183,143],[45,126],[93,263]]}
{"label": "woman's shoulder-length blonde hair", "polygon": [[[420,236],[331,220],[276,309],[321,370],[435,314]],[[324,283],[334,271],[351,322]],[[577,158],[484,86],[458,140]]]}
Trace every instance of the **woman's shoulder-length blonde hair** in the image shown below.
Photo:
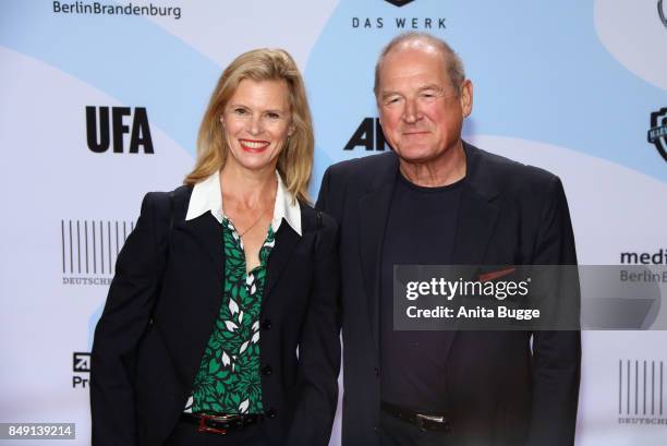
{"label": "woman's shoulder-length blonde hair", "polygon": [[229,146],[220,117],[241,81],[286,81],[294,132],[278,156],[278,172],[287,190],[298,200],[308,202],[307,188],[313,168],[313,120],[303,79],[294,59],[282,49],[255,49],[234,59],[222,72],[210,95],[197,135],[197,161],[184,183],[196,184],[220,170]]}

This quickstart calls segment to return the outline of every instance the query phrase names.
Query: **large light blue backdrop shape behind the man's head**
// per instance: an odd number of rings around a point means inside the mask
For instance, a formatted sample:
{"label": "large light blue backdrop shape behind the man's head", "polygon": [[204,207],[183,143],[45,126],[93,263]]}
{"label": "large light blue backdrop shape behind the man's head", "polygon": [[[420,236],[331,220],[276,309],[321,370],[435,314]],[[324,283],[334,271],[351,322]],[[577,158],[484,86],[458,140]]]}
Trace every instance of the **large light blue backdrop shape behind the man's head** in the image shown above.
{"label": "large light blue backdrop shape behind the man's head", "polygon": [[[445,23],[446,26],[439,26]],[[474,84],[464,134],[509,136],[569,147],[667,181],[646,150],[647,112],[665,92],[630,73],[601,44],[593,2],[511,3],[341,0],[306,68],[318,156],[314,183],[331,161],[373,154],[343,147],[366,117],[377,114],[375,61],[403,31],[445,38]],[[659,161],[659,162],[657,162]]]}

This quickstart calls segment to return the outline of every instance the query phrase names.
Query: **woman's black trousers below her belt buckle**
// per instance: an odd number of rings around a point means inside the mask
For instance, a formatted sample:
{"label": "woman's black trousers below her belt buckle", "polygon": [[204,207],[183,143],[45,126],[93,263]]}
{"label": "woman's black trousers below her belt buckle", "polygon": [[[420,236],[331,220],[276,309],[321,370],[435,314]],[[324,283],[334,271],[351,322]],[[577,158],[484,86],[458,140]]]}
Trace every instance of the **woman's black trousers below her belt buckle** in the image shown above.
{"label": "woman's black trousers below her belt buckle", "polygon": [[226,435],[198,432],[197,426],[179,421],[165,446],[268,446],[262,423]]}

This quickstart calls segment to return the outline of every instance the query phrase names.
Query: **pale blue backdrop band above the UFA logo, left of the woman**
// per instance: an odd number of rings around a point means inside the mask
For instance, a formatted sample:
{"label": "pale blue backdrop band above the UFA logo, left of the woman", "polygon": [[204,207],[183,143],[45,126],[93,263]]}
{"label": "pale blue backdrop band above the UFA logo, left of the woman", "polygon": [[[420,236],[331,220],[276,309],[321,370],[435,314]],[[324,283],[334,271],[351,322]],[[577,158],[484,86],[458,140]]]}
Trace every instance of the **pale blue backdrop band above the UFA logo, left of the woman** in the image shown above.
{"label": "pale blue backdrop band above the UFA logo, left of the woman", "polygon": [[151,123],[194,156],[199,121],[220,75],[216,62],[141,16],[56,14],[50,1],[22,0],[4,1],[0,12],[0,45],[122,104],[145,106]]}

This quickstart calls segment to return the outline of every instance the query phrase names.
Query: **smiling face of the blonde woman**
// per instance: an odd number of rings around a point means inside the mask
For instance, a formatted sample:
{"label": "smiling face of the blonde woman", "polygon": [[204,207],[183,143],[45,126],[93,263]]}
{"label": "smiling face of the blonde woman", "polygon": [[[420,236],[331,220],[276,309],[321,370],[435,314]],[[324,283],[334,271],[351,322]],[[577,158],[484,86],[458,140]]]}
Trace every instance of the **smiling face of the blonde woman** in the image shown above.
{"label": "smiling face of the blonde woman", "polygon": [[230,148],[228,164],[274,171],[280,150],[294,132],[287,83],[241,81],[220,121]]}

